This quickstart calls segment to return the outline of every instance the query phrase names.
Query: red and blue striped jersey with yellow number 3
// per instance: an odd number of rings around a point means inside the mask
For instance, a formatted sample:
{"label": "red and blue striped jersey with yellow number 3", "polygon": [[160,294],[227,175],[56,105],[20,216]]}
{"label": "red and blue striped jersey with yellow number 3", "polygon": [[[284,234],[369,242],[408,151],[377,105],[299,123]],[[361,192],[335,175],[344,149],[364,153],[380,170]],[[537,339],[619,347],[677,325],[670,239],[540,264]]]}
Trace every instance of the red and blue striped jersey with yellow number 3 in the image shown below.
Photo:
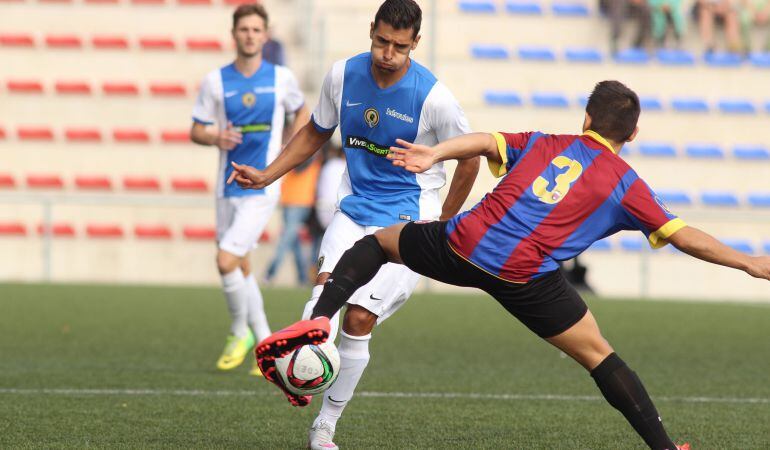
{"label": "red and blue striped jersey with yellow number 3", "polygon": [[650,245],[685,226],[600,135],[496,133],[495,189],[447,223],[464,259],[512,282],[556,270],[595,241],[640,230]]}

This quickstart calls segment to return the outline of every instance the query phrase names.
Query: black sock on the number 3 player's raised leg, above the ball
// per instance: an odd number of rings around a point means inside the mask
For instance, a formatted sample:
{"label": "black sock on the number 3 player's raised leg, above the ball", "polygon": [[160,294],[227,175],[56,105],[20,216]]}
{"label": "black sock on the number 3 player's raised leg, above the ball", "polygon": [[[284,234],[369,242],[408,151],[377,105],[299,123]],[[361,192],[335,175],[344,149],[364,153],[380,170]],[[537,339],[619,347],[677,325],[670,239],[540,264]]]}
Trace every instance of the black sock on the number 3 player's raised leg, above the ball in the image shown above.
{"label": "black sock on the number 3 player's raised leg, above the ball", "polygon": [[342,254],[334,266],[331,276],[324,284],[321,297],[313,308],[312,318],[326,316],[331,318],[340,310],[351,295],[377,274],[383,264],[388,262],[377,238],[369,235],[356,242]]}

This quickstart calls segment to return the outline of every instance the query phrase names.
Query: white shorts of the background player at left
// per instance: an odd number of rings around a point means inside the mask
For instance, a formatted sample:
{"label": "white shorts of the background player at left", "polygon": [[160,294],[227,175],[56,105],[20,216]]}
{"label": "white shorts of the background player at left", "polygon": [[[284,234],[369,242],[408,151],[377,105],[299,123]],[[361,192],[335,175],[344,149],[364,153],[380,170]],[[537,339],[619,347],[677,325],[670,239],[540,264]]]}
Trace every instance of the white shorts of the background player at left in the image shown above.
{"label": "white shorts of the background player at left", "polygon": [[257,248],[278,197],[248,195],[217,198],[217,243],[221,250],[235,256]]}

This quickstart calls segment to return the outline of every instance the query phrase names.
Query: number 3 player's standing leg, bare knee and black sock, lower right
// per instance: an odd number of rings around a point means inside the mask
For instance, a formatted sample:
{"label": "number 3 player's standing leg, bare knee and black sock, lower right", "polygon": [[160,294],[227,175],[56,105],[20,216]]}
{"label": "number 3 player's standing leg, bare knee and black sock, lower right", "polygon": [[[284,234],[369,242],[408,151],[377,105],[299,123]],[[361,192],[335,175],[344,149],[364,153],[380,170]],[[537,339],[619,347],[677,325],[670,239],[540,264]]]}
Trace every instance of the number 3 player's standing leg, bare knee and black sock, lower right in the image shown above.
{"label": "number 3 player's standing leg, bare knee and black sock, lower right", "polygon": [[607,402],[625,416],[650,448],[677,449],[641,380],[602,337],[591,311],[567,331],[546,340],[591,373]]}

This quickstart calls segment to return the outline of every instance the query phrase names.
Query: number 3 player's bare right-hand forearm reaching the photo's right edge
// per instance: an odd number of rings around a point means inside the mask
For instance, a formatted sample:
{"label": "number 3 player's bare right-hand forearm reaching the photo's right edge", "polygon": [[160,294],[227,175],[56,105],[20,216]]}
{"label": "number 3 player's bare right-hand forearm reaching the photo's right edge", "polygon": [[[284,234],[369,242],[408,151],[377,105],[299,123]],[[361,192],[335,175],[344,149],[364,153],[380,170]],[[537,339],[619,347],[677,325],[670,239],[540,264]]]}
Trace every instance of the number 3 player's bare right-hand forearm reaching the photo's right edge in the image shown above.
{"label": "number 3 player's bare right-hand forearm reaching the photo's right edge", "polygon": [[770,257],[756,257],[739,252],[695,227],[684,227],[667,240],[674,247],[695,258],[739,269],[755,278],[770,280]]}

